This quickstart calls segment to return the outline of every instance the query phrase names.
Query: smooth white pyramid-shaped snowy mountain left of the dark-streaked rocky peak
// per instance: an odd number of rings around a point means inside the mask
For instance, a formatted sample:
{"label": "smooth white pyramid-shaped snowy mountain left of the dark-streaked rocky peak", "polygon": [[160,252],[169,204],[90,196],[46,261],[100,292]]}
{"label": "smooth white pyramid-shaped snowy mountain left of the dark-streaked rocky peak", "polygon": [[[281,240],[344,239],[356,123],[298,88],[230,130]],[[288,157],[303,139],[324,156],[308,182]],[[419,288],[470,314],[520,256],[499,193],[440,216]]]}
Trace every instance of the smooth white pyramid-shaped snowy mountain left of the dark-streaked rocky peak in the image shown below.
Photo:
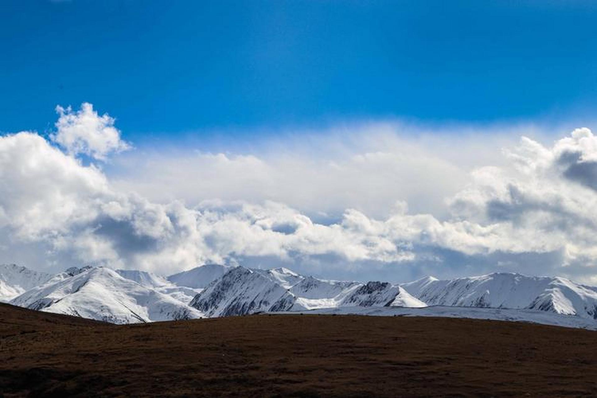
{"label": "smooth white pyramid-shaped snowy mountain left of the dark-streaked rocky peak", "polygon": [[44,285],[24,292],[10,303],[112,323],[202,317],[196,308],[125,279],[108,268],[91,268],[73,276],[65,275],[59,274]]}

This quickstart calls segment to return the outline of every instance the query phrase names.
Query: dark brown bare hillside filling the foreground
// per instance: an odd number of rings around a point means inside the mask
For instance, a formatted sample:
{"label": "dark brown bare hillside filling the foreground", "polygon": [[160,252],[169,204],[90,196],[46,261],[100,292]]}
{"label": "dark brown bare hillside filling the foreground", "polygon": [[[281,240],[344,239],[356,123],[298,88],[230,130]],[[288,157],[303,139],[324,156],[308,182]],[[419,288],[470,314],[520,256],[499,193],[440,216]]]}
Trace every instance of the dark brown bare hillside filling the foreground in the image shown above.
{"label": "dark brown bare hillside filling the foreground", "polygon": [[0,305],[0,396],[597,396],[597,332],[427,317],[115,326]]}

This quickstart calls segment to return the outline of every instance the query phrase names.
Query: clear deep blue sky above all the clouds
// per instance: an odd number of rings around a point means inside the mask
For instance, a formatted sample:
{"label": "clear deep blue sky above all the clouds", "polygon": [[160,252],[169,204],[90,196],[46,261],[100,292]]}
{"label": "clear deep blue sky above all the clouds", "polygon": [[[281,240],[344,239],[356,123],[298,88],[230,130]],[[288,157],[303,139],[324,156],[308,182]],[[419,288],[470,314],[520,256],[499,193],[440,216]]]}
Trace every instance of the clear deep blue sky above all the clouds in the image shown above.
{"label": "clear deep blue sky above all the clouds", "polygon": [[5,1],[2,131],[93,103],[136,144],[259,127],[592,119],[588,1]]}

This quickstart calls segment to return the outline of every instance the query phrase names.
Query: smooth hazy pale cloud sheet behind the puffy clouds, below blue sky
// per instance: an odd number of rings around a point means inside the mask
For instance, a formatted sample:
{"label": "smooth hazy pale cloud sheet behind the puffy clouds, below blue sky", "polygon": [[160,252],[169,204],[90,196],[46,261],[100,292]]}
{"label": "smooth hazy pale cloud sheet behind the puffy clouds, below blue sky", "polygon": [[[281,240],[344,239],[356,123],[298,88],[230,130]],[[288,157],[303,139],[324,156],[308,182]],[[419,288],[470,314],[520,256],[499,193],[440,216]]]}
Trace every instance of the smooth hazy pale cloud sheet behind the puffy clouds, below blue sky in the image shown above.
{"label": "smooth hazy pale cloud sheet behind the puffy clouds, below blue sky", "polygon": [[346,208],[385,218],[396,200],[443,217],[445,196],[466,185],[473,165],[503,162],[498,148],[506,138],[484,138],[483,145],[448,136],[432,141],[402,129],[371,124],[343,134],[324,131],[254,144],[251,153],[139,150],[116,159],[112,183],[156,202],[275,200],[321,220],[337,219]]}

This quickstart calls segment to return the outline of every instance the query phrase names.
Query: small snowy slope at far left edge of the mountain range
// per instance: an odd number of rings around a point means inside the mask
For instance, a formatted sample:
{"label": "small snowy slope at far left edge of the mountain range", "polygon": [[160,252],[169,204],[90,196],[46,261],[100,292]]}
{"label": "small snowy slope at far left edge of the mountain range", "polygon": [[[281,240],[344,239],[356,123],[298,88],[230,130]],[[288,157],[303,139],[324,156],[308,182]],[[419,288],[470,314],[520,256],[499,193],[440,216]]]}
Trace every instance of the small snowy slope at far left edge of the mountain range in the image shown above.
{"label": "small snowy slope at far left edge of the mountain range", "polygon": [[53,275],[30,270],[16,264],[0,264],[0,301],[10,301],[27,290],[41,285]]}

